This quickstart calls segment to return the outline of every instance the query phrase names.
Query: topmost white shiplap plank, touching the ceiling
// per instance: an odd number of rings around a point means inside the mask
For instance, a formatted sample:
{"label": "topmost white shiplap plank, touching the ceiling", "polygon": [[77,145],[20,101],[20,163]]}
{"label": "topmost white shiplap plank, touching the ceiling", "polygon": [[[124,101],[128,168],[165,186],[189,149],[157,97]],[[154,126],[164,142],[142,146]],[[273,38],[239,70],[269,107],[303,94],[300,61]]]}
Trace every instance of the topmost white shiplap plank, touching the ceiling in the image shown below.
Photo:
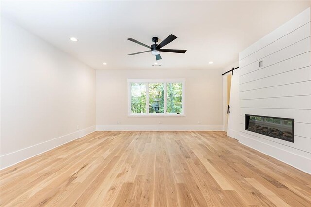
{"label": "topmost white shiplap plank, touching the ceiling", "polygon": [[295,29],[301,27],[302,25],[310,22],[310,8],[307,8],[302,13],[298,14],[296,17],[292,18],[290,21],[286,22],[273,32],[262,37],[257,42],[243,50],[239,53],[239,60],[244,59],[248,55],[260,50],[261,48],[273,43],[277,39],[293,32]]}

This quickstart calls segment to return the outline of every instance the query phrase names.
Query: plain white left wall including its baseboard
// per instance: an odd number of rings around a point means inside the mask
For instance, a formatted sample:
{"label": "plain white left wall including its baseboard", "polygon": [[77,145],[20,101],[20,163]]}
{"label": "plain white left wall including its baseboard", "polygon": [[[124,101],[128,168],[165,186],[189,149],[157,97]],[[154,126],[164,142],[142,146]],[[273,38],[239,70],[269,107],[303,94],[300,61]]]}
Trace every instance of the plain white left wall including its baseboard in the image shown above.
{"label": "plain white left wall including its baseboard", "polygon": [[94,131],[95,75],[1,18],[1,168]]}

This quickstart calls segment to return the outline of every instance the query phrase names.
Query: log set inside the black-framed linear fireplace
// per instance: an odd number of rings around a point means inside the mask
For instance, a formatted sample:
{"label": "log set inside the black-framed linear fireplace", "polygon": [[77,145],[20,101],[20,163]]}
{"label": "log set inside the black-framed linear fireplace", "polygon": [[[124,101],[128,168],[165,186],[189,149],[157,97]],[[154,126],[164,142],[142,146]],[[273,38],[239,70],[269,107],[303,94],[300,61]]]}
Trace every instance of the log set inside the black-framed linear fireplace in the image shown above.
{"label": "log set inside the black-framed linear fireplace", "polygon": [[284,139],[286,141],[292,141],[293,140],[293,133],[289,131],[281,131],[276,128],[268,128],[260,125],[255,125],[252,127],[249,127],[248,130],[257,132],[260,134],[264,134],[267,136]]}

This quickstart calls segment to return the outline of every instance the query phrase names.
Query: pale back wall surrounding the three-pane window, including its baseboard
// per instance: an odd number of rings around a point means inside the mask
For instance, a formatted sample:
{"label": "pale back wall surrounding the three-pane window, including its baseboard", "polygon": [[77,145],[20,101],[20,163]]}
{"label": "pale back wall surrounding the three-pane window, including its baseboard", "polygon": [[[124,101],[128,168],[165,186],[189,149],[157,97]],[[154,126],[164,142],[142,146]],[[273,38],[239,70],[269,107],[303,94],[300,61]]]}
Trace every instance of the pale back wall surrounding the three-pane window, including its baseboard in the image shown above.
{"label": "pale back wall surrounding the three-pane window, including its baseboard", "polygon": [[[221,74],[221,69],[97,70],[97,129],[222,130]],[[186,117],[128,117],[128,78],[186,78]]]}

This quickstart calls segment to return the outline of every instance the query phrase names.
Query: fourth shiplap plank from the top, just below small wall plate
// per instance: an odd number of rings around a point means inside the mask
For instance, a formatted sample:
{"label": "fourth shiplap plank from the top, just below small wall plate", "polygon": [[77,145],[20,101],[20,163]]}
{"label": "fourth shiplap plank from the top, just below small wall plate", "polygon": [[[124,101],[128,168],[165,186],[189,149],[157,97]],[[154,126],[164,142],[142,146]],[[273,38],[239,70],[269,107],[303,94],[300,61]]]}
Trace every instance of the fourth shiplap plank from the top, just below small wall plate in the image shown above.
{"label": "fourth shiplap plank from the top, just below small wall plate", "polygon": [[311,52],[306,52],[293,58],[284,60],[282,62],[270,65],[268,67],[263,67],[258,69],[257,65],[254,64],[253,72],[247,73],[240,76],[240,84],[259,80],[272,75],[277,75],[283,72],[287,72],[294,69],[304,68],[306,66],[311,66]]}

